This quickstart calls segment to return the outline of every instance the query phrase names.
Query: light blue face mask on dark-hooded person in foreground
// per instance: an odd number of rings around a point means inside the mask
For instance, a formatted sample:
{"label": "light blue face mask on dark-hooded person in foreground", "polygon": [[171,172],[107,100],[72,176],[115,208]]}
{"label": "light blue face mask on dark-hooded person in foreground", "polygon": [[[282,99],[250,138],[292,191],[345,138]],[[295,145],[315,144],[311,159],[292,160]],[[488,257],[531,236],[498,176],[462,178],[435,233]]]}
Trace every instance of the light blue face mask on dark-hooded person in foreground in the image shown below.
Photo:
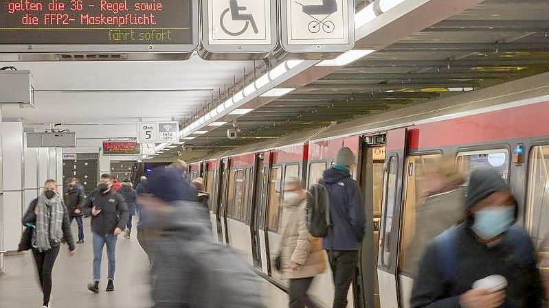
{"label": "light blue face mask on dark-hooded person in foreground", "polygon": [[489,206],[475,213],[473,231],[481,239],[493,239],[504,233],[514,221],[514,206]]}

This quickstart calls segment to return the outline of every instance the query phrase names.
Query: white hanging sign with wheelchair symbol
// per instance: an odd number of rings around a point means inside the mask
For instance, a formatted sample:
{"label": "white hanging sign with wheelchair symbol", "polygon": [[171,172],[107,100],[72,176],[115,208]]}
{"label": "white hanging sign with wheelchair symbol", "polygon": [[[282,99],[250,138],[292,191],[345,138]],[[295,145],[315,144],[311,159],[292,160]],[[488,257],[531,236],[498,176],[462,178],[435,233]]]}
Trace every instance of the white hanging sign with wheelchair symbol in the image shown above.
{"label": "white hanging sign with wheelchair symbol", "polygon": [[203,48],[268,53],[278,43],[276,0],[201,0]]}

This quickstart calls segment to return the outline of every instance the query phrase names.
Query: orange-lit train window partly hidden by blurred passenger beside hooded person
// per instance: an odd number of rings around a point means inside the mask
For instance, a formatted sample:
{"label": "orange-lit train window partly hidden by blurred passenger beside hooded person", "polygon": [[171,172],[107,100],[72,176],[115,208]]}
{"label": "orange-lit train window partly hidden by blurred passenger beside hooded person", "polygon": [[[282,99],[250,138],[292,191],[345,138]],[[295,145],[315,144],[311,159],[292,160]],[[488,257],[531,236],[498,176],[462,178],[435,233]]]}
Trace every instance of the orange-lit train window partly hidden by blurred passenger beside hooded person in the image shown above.
{"label": "orange-lit train window partly hidden by blurred passenger beside hooded person", "polygon": [[[416,239],[414,235],[421,224],[416,224],[416,205],[421,204],[429,191],[426,174],[435,168],[440,154],[410,156],[407,158],[407,176],[399,251],[399,270],[406,274],[415,274],[418,258],[423,256],[425,247],[431,239]],[[413,243],[413,244],[412,244]],[[410,245],[412,244],[412,245]]]}

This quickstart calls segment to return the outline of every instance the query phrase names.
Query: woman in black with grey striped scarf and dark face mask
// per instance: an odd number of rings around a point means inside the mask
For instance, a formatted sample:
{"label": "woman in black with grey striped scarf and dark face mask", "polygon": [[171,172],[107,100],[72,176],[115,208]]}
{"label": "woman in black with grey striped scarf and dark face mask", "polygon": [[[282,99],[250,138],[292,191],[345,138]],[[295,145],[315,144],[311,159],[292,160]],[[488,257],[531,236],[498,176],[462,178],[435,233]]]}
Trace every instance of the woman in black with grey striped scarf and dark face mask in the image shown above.
{"label": "woman in black with grey striped scarf and dark face mask", "polygon": [[52,270],[59,253],[61,239],[67,240],[70,256],[73,256],[76,250],[71,234],[69,212],[57,193],[55,180],[47,180],[44,183],[43,193],[30,202],[27,213],[23,217],[23,224],[34,228],[32,254],[42,288],[43,308],[47,308],[52,294]]}

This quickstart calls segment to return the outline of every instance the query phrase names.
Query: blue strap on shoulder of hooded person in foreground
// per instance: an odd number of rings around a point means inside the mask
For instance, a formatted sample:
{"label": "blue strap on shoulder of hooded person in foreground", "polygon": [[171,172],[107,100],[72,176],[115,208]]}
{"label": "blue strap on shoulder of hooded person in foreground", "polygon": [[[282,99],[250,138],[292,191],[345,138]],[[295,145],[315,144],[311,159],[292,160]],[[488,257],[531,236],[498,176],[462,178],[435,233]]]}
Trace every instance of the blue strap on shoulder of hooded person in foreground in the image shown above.
{"label": "blue strap on shoulder of hooded person in foreground", "polygon": [[434,239],[438,253],[438,267],[445,281],[453,281],[458,275],[456,266],[457,227],[451,227]]}

